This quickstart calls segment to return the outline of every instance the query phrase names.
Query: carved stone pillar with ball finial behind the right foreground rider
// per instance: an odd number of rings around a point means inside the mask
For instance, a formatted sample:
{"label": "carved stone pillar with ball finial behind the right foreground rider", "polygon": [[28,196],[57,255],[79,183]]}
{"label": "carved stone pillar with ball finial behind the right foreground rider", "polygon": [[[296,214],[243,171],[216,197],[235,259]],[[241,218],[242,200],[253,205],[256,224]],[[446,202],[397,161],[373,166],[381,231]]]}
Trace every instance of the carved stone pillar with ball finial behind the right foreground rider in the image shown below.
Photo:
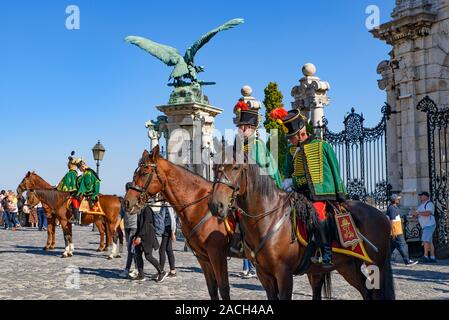
{"label": "carved stone pillar with ball finial behind the right foreground rider", "polygon": [[316,67],[306,63],[302,68],[304,77],[299,80],[299,85],[293,87],[291,95],[295,99],[292,107],[299,109],[303,115],[311,120],[315,127],[315,134],[322,137],[324,107],[330,103],[327,91],[330,85],[315,76]]}

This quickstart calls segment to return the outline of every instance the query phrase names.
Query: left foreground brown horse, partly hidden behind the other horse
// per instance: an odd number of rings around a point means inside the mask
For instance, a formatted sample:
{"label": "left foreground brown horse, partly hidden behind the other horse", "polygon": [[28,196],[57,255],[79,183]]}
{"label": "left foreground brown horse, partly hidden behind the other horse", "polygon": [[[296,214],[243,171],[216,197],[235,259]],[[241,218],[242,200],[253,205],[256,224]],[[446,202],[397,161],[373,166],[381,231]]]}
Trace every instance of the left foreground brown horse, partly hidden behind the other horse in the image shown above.
{"label": "left foreground brown horse, partly hidden behind the other horse", "polygon": [[[230,299],[225,226],[212,217],[207,198],[212,183],[159,156],[159,147],[144,151],[125,196],[131,213],[141,209],[150,197],[161,193],[182,221],[182,233],[198,259],[211,299]],[[217,289],[218,286],[218,289]]]}

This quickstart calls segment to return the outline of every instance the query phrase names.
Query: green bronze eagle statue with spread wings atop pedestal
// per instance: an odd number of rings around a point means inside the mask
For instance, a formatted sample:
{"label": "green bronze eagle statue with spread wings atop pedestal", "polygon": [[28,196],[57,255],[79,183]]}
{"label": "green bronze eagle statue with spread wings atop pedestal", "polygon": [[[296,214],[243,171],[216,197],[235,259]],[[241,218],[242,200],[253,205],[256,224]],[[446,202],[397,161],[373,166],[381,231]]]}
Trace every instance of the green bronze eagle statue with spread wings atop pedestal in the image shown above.
{"label": "green bronze eagle statue with spread wings atop pedestal", "polygon": [[158,58],[160,61],[165,63],[167,66],[174,67],[170,78],[173,79],[174,83],[170,84],[172,86],[184,86],[189,83],[185,82],[183,79],[189,79],[191,83],[199,84],[214,84],[198,81],[198,73],[204,71],[204,67],[196,66],[194,59],[195,55],[206,43],[208,43],[217,33],[225,31],[244,23],[243,19],[233,19],[225,24],[215,28],[205,35],[203,35],[199,40],[197,40],[191,47],[187,49],[184,56],[181,56],[179,51],[173,47],[160,44],[149,39],[138,37],[138,36],[128,36],[125,41],[138,46],[139,48],[145,50],[152,56]]}

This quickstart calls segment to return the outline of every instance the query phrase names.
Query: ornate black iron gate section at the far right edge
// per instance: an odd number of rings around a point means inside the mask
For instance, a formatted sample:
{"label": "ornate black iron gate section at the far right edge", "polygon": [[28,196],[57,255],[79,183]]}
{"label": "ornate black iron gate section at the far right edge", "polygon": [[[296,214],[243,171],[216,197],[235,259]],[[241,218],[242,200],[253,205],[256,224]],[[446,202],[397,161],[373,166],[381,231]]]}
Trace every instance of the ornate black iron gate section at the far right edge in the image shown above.
{"label": "ornate black iron gate section at the far right edge", "polygon": [[438,108],[426,96],[418,103],[418,110],[427,114],[430,196],[435,205],[436,239],[439,245],[449,244],[449,108]]}

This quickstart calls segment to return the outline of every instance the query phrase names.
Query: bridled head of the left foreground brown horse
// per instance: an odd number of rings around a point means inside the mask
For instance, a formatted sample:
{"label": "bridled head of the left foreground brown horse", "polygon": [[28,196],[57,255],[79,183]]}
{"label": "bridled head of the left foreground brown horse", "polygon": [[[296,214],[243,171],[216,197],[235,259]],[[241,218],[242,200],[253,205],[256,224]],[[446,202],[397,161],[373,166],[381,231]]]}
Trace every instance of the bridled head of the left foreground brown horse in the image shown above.
{"label": "bridled head of the left foreground brown horse", "polygon": [[132,183],[126,185],[125,210],[136,213],[151,197],[163,190],[163,183],[158,172],[159,146],[151,153],[145,150],[134,171]]}

